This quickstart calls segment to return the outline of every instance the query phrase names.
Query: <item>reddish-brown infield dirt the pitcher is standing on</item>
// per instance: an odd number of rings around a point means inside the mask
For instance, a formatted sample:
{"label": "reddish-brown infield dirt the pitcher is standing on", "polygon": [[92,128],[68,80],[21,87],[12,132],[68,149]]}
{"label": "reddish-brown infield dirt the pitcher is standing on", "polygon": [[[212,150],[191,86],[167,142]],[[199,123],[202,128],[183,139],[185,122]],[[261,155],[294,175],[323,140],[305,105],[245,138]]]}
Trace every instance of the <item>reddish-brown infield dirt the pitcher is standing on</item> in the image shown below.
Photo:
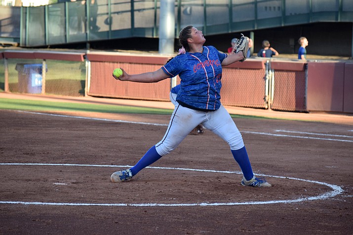
{"label": "reddish-brown infield dirt the pitcher is standing on", "polygon": [[[351,116],[317,114],[323,120],[311,121],[234,118],[255,174],[267,175],[273,184],[254,189],[240,185],[240,169],[229,146],[208,130],[189,135],[152,165],[159,169],[146,168],[131,181],[111,183],[110,175],[122,168],[116,165],[135,164],[163,137],[170,117],[60,115],[0,111],[1,163],[18,163],[0,165],[0,234],[352,234]],[[343,191],[327,196],[333,191],[330,185]],[[306,199],[311,197],[316,199]],[[238,204],[227,205],[234,202]],[[127,205],[114,206],[119,203]],[[181,205],[191,203],[226,205]]]}

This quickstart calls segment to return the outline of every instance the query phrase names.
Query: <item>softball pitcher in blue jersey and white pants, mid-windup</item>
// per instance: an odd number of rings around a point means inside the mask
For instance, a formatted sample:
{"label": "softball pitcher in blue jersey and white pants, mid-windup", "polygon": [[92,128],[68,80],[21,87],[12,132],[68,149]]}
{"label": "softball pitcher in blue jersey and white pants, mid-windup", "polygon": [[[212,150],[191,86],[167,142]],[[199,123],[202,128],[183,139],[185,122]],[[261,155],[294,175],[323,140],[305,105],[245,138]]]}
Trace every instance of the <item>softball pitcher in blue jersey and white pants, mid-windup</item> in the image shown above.
{"label": "softball pitcher in blue jersey and white pants, mid-windup", "polygon": [[[222,66],[246,59],[248,39],[242,37],[240,40],[236,43],[237,53],[227,55],[213,46],[203,46],[206,39],[202,31],[187,26],[179,34],[179,42],[183,46],[179,54],[157,71],[129,75],[121,69],[123,73],[120,77],[113,75],[116,79],[134,82],[158,82],[179,75],[181,88],[176,99],[178,104],[162,140],[147,151],[136,165],[114,172],[111,175],[112,182],[131,179],[140,170],[173,151],[190,131],[202,124],[229,144],[243,173],[241,185],[271,187],[264,178],[254,176],[242,136],[220,102]],[[246,43],[245,47],[243,43]]]}

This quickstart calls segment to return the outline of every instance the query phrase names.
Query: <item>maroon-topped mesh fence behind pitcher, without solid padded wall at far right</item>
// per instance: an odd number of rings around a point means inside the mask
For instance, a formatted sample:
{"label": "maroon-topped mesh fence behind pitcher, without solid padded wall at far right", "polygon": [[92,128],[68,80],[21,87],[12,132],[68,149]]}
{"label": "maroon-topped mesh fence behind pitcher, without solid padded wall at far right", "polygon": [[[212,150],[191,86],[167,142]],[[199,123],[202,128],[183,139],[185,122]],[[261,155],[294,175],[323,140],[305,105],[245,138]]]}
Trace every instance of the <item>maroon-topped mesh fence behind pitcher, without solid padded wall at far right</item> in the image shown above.
{"label": "maroon-topped mesh fence behind pitcher, without solid padded wall at far right", "polygon": [[[22,59],[14,58],[15,56],[20,56]],[[119,67],[124,68],[130,74],[156,71],[164,63],[164,57],[156,60],[157,57],[97,54],[94,60],[84,61],[83,57],[74,58],[74,56],[81,55],[67,52],[27,51],[12,52],[12,54],[4,52],[3,63],[0,66],[0,72],[2,72],[0,73],[0,89],[6,89],[4,74],[7,73],[8,91],[14,93],[65,96],[88,94],[101,97],[169,101],[171,88],[169,79],[151,84],[122,82],[112,77],[112,71]],[[306,71],[307,67],[304,63],[272,60],[267,62],[251,60],[238,64],[237,67],[225,67],[222,75],[222,104],[305,112],[307,111]],[[177,78],[177,80],[180,79]]]}

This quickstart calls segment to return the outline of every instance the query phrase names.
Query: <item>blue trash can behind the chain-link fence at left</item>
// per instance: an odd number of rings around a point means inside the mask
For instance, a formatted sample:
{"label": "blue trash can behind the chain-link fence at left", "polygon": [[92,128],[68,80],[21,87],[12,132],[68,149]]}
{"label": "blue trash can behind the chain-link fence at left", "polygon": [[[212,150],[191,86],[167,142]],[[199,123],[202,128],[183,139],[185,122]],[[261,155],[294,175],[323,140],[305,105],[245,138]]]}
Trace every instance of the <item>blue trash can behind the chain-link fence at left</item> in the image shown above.
{"label": "blue trash can behind the chain-link fence at left", "polygon": [[[18,72],[18,89],[21,93],[40,94],[42,64],[16,64]],[[48,68],[45,68],[48,71]]]}

